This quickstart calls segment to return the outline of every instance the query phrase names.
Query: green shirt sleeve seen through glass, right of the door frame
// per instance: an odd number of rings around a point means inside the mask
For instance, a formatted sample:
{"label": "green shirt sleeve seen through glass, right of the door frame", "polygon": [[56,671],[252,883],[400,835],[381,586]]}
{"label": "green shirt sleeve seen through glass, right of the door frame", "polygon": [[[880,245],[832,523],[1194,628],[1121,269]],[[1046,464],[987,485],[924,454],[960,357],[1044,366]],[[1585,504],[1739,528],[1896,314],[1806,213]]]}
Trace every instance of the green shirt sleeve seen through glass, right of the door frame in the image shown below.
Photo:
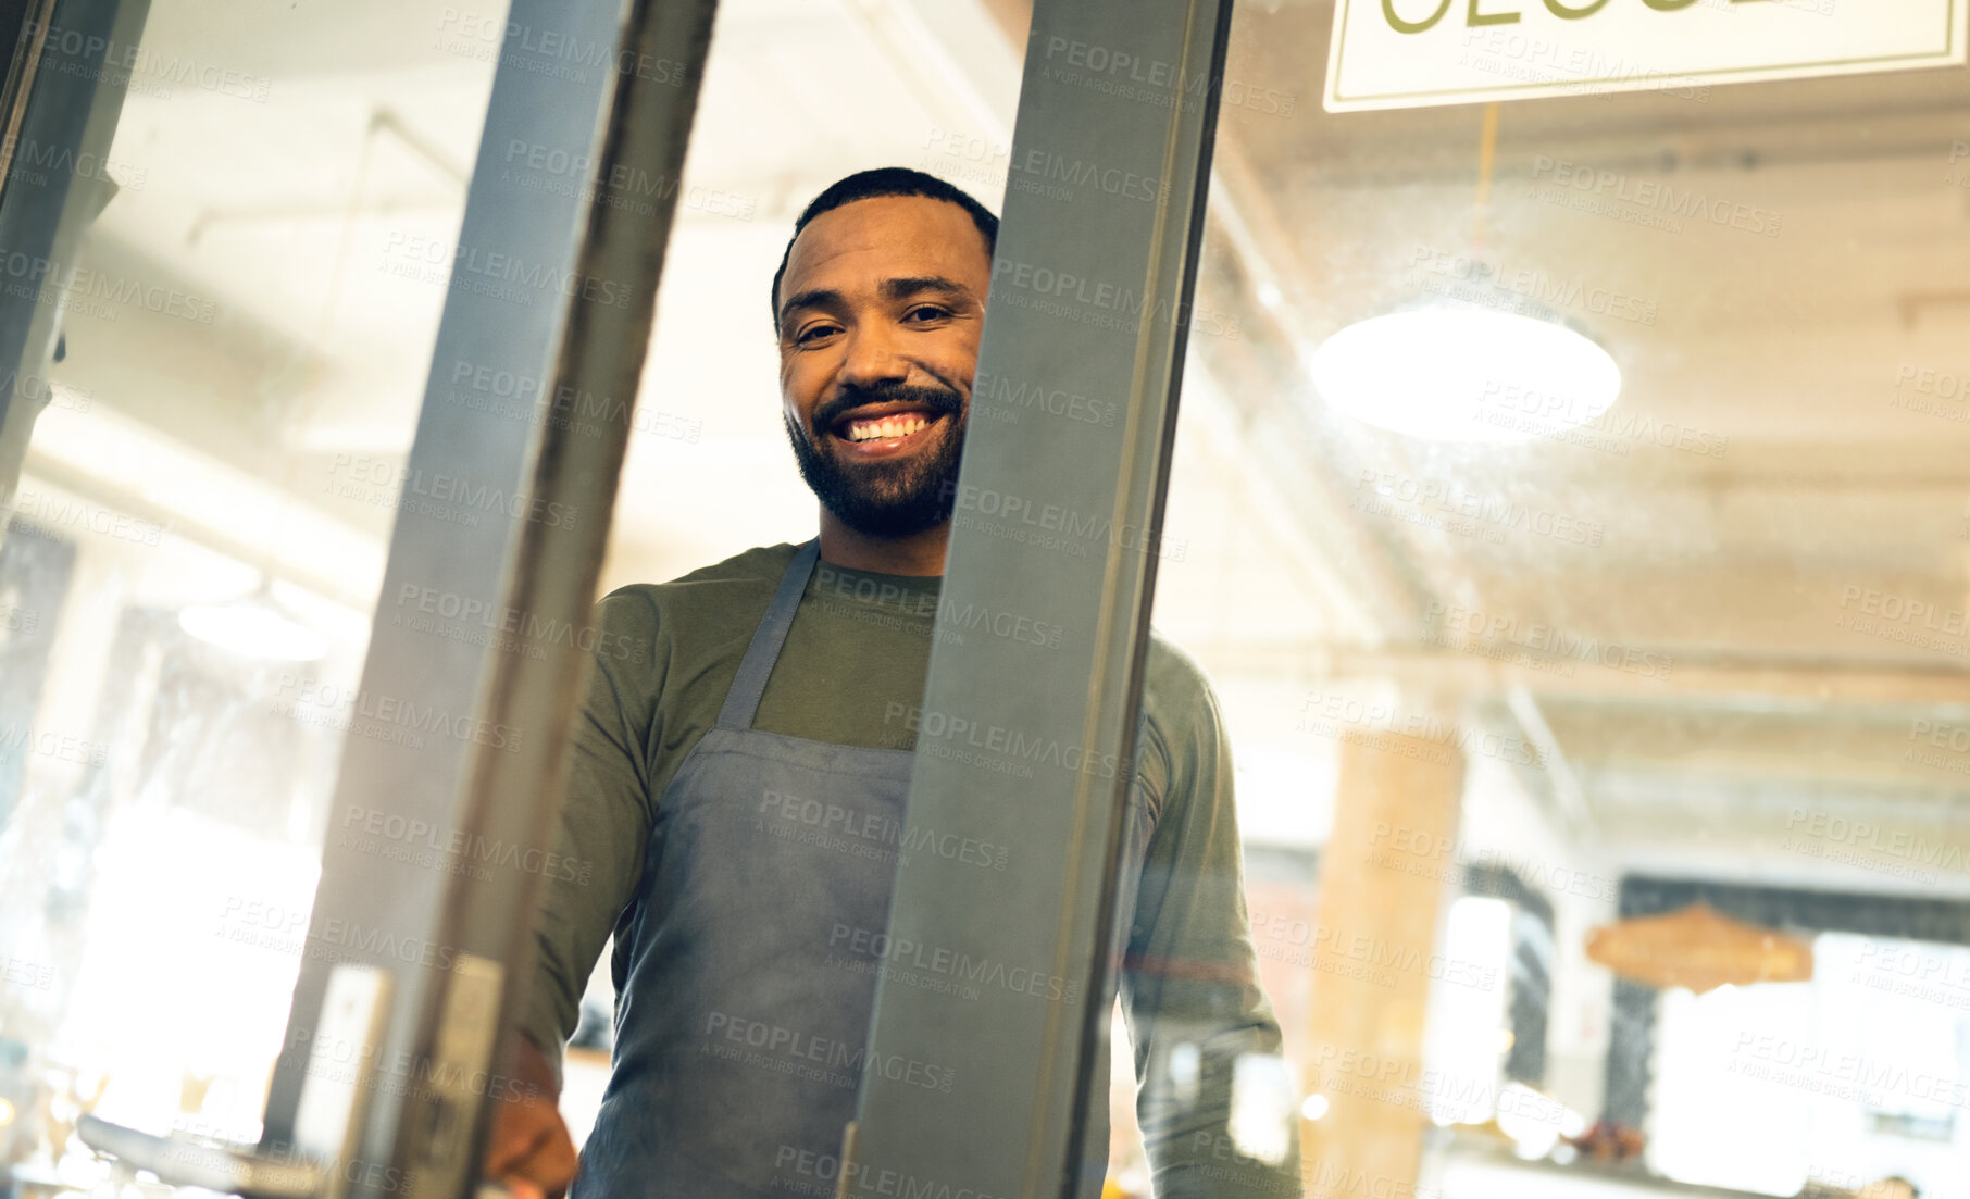
{"label": "green shirt sleeve seen through glass, right of the door frame", "polygon": [[1152,833],[1121,996],[1152,1189],[1156,1199],[1296,1199],[1298,1103],[1259,988],[1231,744],[1190,658],[1158,638],[1147,671],[1137,760]]}

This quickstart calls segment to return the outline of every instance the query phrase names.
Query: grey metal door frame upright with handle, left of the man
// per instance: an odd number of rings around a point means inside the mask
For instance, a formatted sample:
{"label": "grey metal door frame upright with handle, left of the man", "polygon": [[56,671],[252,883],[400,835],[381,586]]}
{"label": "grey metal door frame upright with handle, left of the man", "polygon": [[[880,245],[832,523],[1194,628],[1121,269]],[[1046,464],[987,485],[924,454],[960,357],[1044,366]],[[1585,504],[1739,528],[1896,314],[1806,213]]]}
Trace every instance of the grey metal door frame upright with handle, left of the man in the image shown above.
{"label": "grey metal door frame upright with handle, left of the man", "polygon": [[[715,0],[514,0],[508,12],[406,488],[491,488],[512,498],[496,514],[510,520],[465,526],[445,502],[400,508],[361,695],[378,711],[443,713],[463,732],[406,746],[388,719],[355,717],[331,829],[345,813],[384,813],[437,831],[441,845],[554,843],[587,638],[524,646],[522,632],[520,646],[477,646],[410,616],[435,593],[496,614],[500,630],[587,628],[713,14]],[[569,47],[583,67],[565,69]],[[516,167],[516,146],[520,163],[550,169]],[[552,173],[563,161],[593,163],[579,187]],[[656,215],[593,203],[613,177],[658,181]],[[559,419],[554,404],[536,404],[536,421],[481,415],[475,388],[512,378],[540,380],[534,400],[597,398],[607,415]],[[388,1169],[343,1179],[351,1195],[477,1185],[496,1047],[530,988],[540,860],[481,860],[485,880],[333,837],[323,847],[309,947],[392,977],[372,1085],[359,1097],[362,1132],[343,1154]],[[361,929],[384,929],[398,951]],[[418,947],[408,969],[404,945]],[[303,959],[262,1144],[296,1140],[331,973],[327,957]]]}

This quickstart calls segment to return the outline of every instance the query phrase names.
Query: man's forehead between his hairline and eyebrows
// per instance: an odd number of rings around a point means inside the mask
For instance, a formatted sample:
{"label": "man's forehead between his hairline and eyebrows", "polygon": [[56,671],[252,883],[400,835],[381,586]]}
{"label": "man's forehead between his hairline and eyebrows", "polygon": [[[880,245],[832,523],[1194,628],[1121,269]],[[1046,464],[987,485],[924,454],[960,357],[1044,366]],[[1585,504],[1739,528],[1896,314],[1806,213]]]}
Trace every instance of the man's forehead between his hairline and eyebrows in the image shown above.
{"label": "man's forehead between his hairline and eyebrows", "polygon": [[794,280],[833,270],[881,274],[955,274],[991,270],[985,234],[961,207],[922,195],[881,195],[821,213],[794,238],[786,260]]}

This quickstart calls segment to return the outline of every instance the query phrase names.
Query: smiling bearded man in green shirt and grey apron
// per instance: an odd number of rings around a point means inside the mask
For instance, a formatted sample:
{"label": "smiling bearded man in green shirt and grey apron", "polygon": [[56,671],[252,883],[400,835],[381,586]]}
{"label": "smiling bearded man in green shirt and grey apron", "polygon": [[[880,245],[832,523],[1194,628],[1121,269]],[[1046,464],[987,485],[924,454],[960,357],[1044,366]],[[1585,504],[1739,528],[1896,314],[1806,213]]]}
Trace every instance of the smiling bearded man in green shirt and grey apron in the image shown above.
{"label": "smiling bearded man in green shirt and grey apron", "polygon": [[[875,996],[871,963],[835,941],[886,923],[914,744],[894,713],[924,693],[995,236],[975,199],[918,171],[816,197],[772,311],[818,543],[601,602],[607,642],[650,654],[599,654],[575,728],[559,849],[593,880],[554,882],[544,902],[518,1049],[540,1097],[502,1104],[487,1156],[516,1191],[573,1173],[559,1053],[540,1047],[571,1034],[611,931],[617,1043],[577,1199],[835,1191],[814,1164],[853,1118]],[[1149,829],[1127,862],[1121,996],[1156,1195],[1296,1195],[1292,1112],[1273,1112],[1288,1136],[1271,1167],[1229,1134],[1235,1061],[1280,1038],[1255,980],[1215,699],[1160,640],[1135,780]],[[936,1063],[912,1069],[952,1085]]]}

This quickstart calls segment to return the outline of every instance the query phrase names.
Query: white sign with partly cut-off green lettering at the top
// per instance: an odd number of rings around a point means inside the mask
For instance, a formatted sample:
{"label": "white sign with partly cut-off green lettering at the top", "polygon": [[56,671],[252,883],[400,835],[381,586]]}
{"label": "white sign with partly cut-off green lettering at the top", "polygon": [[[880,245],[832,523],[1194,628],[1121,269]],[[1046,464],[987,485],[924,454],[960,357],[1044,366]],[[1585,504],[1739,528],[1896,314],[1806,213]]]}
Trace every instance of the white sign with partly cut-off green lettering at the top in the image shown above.
{"label": "white sign with partly cut-off green lettering at the top", "polygon": [[1336,0],[1330,112],[1946,67],[1970,0]]}

